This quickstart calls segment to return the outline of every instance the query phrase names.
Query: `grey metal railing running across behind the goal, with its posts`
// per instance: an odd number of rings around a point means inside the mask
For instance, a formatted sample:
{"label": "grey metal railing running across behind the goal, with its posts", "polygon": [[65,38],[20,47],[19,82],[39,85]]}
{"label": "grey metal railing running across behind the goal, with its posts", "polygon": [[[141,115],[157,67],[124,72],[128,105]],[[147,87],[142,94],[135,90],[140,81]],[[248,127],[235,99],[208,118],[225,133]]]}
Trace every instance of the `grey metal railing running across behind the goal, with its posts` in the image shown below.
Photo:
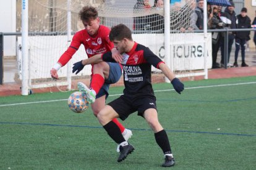
{"label": "grey metal railing running across behind the goal, with its posts", "polygon": [[[245,29],[216,29],[216,30],[207,30],[208,33],[212,32],[223,32],[224,33],[224,68],[228,68],[228,34],[229,32],[239,32],[239,31],[256,31],[255,28],[245,28]],[[186,31],[187,33],[203,33],[203,30],[193,30],[193,31]],[[139,31],[132,31],[134,34],[142,34],[142,33],[163,33],[163,30],[139,30]],[[171,33],[177,33],[177,31],[171,31]],[[28,35],[35,35],[38,34],[38,32],[29,32]],[[45,32],[43,35],[65,35],[67,32]],[[72,32],[71,34],[75,34],[75,32]],[[4,36],[21,36],[22,33],[1,33],[0,32],[0,84],[2,84],[3,77],[4,77],[4,69],[3,69],[3,59],[4,59]],[[41,36],[43,36],[41,35]]]}

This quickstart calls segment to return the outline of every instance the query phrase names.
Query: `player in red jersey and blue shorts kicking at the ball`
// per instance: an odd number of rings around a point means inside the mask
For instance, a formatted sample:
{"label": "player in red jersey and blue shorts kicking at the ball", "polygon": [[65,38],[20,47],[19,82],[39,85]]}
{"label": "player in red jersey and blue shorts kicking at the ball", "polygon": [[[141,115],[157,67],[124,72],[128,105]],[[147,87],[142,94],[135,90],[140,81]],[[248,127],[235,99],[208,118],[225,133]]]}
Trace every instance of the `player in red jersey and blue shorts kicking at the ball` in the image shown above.
{"label": "player in red jersey and blue shorts kicking at the ball", "polygon": [[[119,52],[114,48],[113,42],[109,40],[109,28],[104,25],[100,25],[100,18],[98,18],[98,11],[91,6],[85,6],[79,12],[80,19],[85,26],[84,30],[80,30],[74,34],[69,48],[58,60],[58,63],[51,69],[51,76],[58,79],[59,68],[66,65],[72,58],[75,52],[83,44],[88,58],[93,57],[95,54],[104,54],[111,51],[113,57],[118,57]],[[82,61],[74,64],[73,73],[79,73],[83,69]],[[80,67],[80,70],[76,68]],[[74,71],[75,70],[75,71]],[[87,95],[88,101],[91,103],[94,115],[98,115],[99,111],[105,106],[106,97],[108,97],[109,84],[116,83],[122,75],[122,67],[119,63],[101,62],[92,64],[92,79],[90,88],[92,94]],[[80,83],[84,85],[83,83]],[[114,123],[119,127],[122,135],[126,140],[132,136],[132,132],[122,126],[119,121],[114,118]],[[117,152],[119,146],[117,147]]]}

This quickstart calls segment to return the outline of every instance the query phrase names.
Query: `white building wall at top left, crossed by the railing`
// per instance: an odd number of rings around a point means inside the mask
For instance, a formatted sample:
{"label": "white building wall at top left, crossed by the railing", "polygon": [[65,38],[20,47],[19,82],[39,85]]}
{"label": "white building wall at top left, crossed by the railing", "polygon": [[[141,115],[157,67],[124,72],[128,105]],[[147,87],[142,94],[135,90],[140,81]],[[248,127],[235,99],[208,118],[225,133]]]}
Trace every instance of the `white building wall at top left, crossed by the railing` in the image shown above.
{"label": "white building wall at top left, crossed by the railing", "polygon": [[[0,0],[0,32],[16,32],[16,0]],[[15,36],[4,36],[4,56],[16,55]]]}

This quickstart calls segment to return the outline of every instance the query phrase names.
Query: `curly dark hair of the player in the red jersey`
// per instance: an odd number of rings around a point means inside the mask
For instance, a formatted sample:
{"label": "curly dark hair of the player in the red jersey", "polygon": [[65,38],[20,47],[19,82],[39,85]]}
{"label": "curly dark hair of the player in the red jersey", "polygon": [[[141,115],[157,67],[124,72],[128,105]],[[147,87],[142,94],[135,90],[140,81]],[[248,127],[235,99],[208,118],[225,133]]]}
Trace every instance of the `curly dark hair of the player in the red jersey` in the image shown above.
{"label": "curly dark hair of the player in the red jersey", "polygon": [[98,17],[98,11],[95,7],[85,6],[80,10],[79,17],[82,21],[88,22],[89,20],[94,20]]}

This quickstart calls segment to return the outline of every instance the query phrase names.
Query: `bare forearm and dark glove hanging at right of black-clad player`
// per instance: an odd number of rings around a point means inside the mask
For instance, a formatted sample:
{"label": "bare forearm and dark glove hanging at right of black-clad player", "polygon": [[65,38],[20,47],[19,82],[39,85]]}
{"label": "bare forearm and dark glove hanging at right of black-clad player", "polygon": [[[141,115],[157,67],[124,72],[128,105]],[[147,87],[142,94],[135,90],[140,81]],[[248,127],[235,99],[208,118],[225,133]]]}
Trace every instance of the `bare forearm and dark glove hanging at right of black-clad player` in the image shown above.
{"label": "bare forearm and dark glove hanging at right of black-clad player", "polygon": [[175,77],[173,71],[171,71],[165,63],[160,63],[159,68],[163,71],[164,75],[169,79],[169,81],[171,81],[175,91],[181,94],[181,92],[184,90],[184,84]]}

